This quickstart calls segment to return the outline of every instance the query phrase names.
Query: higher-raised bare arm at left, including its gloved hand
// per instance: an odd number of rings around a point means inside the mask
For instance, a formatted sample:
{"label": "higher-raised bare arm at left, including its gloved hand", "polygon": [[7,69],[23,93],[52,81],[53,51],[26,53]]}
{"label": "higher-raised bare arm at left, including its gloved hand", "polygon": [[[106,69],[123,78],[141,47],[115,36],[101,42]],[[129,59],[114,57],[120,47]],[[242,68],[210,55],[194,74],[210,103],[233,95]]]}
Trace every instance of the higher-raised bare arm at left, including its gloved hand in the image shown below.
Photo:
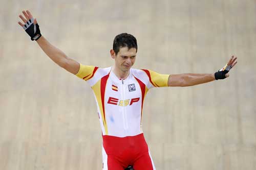
{"label": "higher-raised bare arm at left, including its gloved hand", "polygon": [[66,69],[74,75],[77,74],[80,64],[77,61],[67,57],[65,53],[47,41],[44,36],[41,36],[37,21],[33,18],[32,14],[28,10],[23,11],[23,14],[25,18],[22,15],[19,15],[19,17],[24,23],[18,22],[18,24],[25,29],[25,31],[31,37],[31,40],[36,40],[46,55],[60,67]]}

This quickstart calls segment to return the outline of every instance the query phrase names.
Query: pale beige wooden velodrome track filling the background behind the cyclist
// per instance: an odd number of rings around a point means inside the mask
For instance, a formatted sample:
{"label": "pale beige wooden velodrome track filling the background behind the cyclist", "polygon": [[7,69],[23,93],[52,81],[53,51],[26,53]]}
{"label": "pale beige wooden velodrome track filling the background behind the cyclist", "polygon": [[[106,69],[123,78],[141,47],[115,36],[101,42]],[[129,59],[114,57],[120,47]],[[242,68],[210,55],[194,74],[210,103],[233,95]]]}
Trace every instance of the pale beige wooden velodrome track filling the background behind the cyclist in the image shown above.
{"label": "pale beige wooden velodrome track filling the background behind the cyclist", "polygon": [[122,32],[138,40],[135,68],[230,77],[148,92],[143,131],[158,170],[256,169],[256,2],[0,1],[0,169],[102,169],[101,130],[86,82],[53,63],[17,24],[29,9],[70,58],[114,63]]}

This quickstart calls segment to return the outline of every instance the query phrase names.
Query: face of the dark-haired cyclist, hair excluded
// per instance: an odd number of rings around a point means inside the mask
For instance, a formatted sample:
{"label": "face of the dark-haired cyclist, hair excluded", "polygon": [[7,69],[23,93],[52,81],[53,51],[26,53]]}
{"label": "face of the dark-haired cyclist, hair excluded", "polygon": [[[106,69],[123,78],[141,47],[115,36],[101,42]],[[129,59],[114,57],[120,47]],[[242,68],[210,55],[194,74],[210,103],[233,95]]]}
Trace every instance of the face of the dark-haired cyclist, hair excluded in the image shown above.
{"label": "face of the dark-haired cyclist, hair excluded", "polygon": [[112,58],[115,59],[115,66],[123,72],[128,71],[135,63],[136,48],[128,50],[127,47],[121,47],[117,55],[114,50],[111,50],[110,53]]}

